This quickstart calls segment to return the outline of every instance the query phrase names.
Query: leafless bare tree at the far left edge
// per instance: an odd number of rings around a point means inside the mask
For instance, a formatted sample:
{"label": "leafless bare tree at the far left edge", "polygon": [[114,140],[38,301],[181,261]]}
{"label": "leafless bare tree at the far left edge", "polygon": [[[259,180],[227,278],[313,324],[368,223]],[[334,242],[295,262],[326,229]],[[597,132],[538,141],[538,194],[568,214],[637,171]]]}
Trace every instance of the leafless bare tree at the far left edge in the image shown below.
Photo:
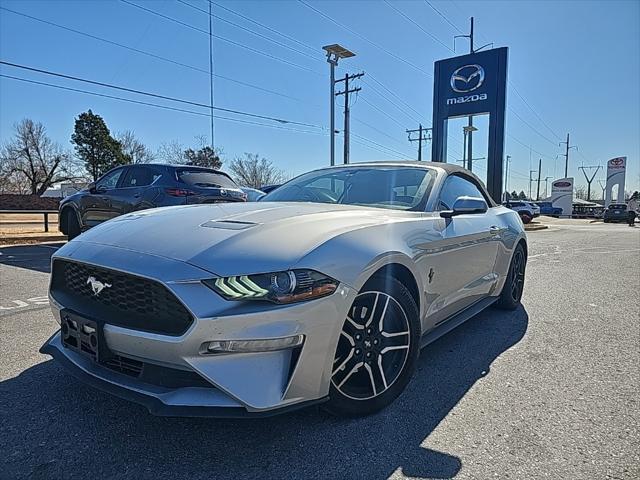
{"label": "leafless bare tree at the far left edge", "polygon": [[52,141],[42,123],[25,118],[0,152],[0,177],[17,191],[42,195],[54,183],[78,178],[72,157]]}

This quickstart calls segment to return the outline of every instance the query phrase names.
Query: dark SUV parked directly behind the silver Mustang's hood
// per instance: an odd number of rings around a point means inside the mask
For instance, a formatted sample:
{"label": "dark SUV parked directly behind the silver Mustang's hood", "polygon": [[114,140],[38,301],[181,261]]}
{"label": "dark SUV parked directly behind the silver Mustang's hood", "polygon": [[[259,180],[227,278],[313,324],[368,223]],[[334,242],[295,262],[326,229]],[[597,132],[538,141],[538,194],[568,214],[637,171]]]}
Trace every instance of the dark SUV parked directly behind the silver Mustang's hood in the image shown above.
{"label": "dark SUV parked directly behind the silver Mustang's hood", "polygon": [[60,202],[60,231],[71,240],[111,218],[145,208],[244,202],[246,194],[226,173],[176,165],[124,165]]}

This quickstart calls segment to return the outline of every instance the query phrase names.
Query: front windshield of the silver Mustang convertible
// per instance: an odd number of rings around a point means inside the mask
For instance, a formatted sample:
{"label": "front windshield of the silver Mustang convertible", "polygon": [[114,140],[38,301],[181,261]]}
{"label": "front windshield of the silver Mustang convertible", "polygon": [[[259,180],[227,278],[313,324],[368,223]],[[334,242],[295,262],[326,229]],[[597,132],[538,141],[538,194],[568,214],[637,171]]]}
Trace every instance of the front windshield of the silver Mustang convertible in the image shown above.
{"label": "front windshield of the silver Mustang convertible", "polygon": [[345,167],[306,173],[262,202],[316,202],[409,210],[424,206],[436,172],[416,167]]}

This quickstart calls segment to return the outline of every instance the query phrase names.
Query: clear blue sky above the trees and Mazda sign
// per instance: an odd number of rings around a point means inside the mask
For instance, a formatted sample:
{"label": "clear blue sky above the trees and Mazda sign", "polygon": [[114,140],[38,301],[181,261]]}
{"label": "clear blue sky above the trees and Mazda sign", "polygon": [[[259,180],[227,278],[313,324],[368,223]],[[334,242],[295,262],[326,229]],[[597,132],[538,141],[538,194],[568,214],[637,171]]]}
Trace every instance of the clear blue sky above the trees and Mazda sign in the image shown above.
{"label": "clear blue sky above the trees and Mazda sign", "polygon": [[[208,15],[192,8],[206,10],[208,3],[185,0],[192,5],[189,7],[174,0],[130,1],[195,28],[117,0],[0,0],[0,6],[195,68],[6,10],[0,10],[0,58],[208,104],[208,35],[199,31],[208,29]],[[216,106],[312,125],[268,128],[217,119],[215,143],[224,148],[227,158],[258,152],[290,174],[329,163],[328,66],[321,50],[329,43],[340,43],[357,53],[356,58],[341,62],[338,76],[366,72],[364,79],[356,82],[362,91],[352,102],[351,160],[415,157],[416,144],[409,144],[404,130],[416,128],[420,121],[431,124],[433,62],[468,50],[464,39],[456,42],[456,53],[450,48],[453,35],[459,34],[458,30],[466,33],[468,18],[473,15],[477,46],[493,42],[496,47],[510,49],[505,148],[512,157],[509,189],[528,190],[528,173],[537,168],[538,158],[543,159],[543,178],[562,176],[563,158],[557,157],[562,147],[558,142],[567,132],[578,147],[570,153],[569,169],[578,184],[585,183],[579,166],[604,166],[607,159],[626,155],[627,189],[640,189],[640,2],[431,1],[438,12],[422,0],[390,1],[392,6],[383,1],[307,3],[350,31],[293,0],[214,2],[214,14],[224,19],[214,18],[214,33],[226,39],[214,39],[215,73],[277,93],[216,77]],[[197,106],[4,65],[0,73],[206,113]],[[341,104],[340,99],[336,108],[338,128],[342,126]],[[154,150],[172,140],[193,145],[196,135],[209,134],[206,116],[0,78],[0,141],[11,136],[16,121],[29,117],[43,122],[53,139],[71,148],[74,117],[89,108],[104,117],[112,132],[133,130]],[[219,115],[274,124],[222,112]],[[482,120],[478,123],[481,127],[486,124]],[[458,126],[450,127],[450,132],[454,130]],[[477,134],[474,156],[485,154],[484,130]],[[341,160],[342,143],[337,140],[337,158]],[[449,143],[451,157],[456,157],[461,151],[462,134],[450,133]],[[486,161],[479,160],[477,166],[479,175],[484,176]],[[600,171],[596,178],[603,177]],[[594,185],[598,192],[597,182]]]}

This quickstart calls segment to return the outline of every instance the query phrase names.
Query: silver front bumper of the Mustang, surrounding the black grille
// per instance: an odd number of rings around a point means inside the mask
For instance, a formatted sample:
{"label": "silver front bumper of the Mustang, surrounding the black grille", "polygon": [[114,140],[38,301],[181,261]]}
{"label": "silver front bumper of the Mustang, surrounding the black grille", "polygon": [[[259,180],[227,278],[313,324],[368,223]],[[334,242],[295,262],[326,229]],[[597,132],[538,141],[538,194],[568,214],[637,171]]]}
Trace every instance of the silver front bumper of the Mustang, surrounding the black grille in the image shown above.
{"label": "silver front bumper of the Mustang, surrounding the black grille", "polygon": [[[61,252],[65,259],[97,264],[90,245],[75,244]],[[61,249],[62,250],[62,249]],[[94,253],[91,253],[94,252]],[[146,257],[146,258],[145,258]],[[206,386],[166,387],[113,371],[85,355],[65,348],[60,332],[41,352],[51,355],[75,376],[121,398],[140,403],[156,415],[265,416],[326,399],[333,356],[342,322],[357,292],[341,285],[336,293],[310,302],[279,306],[232,302],[219,297],[200,280],[209,272],[161,257],[102,247],[100,265],[162,282],[192,313],[193,324],[181,336],[103,325],[107,348],[124,359],[172,371],[197,374]],[[153,272],[149,274],[149,265]],[[156,274],[163,272],[162,274]],[[170,272],[170,274],[165,274]],[[167,277],[179,278],[179,281]],[[187,280],[188,279],[188,280]],[[58,323],[65,309],[50,294]],[[90,318],[90,312],[76,312]],[[215,340],[273,339],[304,335],[297,350],[206,354],[203,344]]]}

